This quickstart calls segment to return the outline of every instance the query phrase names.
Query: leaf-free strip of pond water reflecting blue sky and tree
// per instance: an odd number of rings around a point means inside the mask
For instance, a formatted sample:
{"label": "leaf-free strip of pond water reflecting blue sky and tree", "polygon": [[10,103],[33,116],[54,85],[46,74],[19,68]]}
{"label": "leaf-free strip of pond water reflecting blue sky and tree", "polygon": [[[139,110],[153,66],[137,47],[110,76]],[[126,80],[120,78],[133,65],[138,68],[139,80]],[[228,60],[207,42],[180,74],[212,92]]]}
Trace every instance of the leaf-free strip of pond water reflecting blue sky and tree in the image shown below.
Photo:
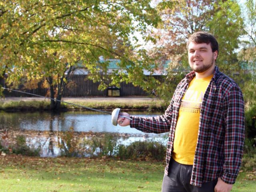
{"label": "leaf-free strip of pond water reflecting blue sky and tree", "polygon": [[[133,113],[134,114],[134,113]],[[157,114],[138,116],[156,116]],[[37,130],[37,131],[66,131],[74,127],[77,132],[118,132],[127,134],[144,134],[131,129],[130,126],[114,126],[111,116],[97,112],[33,112],[33,113],[4,113],[0,115],[0,130]]]}

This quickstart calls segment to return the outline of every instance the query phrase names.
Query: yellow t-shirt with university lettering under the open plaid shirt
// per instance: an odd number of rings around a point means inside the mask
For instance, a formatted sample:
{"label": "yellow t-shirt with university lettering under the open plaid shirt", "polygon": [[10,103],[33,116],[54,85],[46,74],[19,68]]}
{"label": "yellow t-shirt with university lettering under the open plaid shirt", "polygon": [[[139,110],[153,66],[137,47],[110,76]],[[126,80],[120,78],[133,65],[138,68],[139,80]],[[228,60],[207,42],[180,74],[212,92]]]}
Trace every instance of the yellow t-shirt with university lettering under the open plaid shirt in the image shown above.
{"label": "yellow t-shirt with university lettering under the open plaid shirt", "polygon": [[182,98],[172,152],[172,158],[181,164],[193,165],[202,100],[212,77],[192,79]]}

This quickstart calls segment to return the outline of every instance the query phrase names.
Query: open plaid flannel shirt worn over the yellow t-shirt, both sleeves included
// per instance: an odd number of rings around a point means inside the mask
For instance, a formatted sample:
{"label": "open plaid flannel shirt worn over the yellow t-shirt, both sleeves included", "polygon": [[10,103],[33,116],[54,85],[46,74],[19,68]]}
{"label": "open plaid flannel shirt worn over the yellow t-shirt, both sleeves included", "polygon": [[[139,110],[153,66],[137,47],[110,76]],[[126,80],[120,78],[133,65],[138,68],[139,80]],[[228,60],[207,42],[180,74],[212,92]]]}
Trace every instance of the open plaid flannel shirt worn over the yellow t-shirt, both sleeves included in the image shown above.
{"label": "open plaid flannel shirt worn over the yellow t-shirt, both sleeves included", "polygon": [[[164,115],[156,117],[131,116],[132,128],[142,132],[169,132],[165,174],[172,156],[174,132],[180,102],[195,72],[186,75],[177,86]],[[202,183],[218,177],[234,184],[238,175],[244,146],[244,100],[238,85],[221,73],[217,66],[202,101],[198,140],[190,184]]]}

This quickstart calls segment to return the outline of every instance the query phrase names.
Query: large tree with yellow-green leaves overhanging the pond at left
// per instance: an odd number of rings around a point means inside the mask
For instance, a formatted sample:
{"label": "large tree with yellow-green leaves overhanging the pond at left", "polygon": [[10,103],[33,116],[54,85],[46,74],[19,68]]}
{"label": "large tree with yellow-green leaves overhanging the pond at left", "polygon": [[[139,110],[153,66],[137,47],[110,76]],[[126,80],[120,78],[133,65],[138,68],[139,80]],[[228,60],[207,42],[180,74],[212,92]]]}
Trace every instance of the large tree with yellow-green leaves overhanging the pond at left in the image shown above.
{"label": "large tree with yellow-green leaves overhanging the pond at left", "polygon": [[[90,78],[118,85],[150,85],[142,69],[153,71],[150,60],[138,44],[135,31],[146,40],[148,26],[156,26],[158,14],[150,0],[13,0],[0,2],[0,68],[6,82],[18,85],[22,79],[45,79],[50,96],[61,99],[68,75],[81,66]],[[121,70],[106,76],[108,63],[98,58],[118,58]],[[82,61],[82,62],[78,62]],[[52,101],[52,108],[58,108]]]}

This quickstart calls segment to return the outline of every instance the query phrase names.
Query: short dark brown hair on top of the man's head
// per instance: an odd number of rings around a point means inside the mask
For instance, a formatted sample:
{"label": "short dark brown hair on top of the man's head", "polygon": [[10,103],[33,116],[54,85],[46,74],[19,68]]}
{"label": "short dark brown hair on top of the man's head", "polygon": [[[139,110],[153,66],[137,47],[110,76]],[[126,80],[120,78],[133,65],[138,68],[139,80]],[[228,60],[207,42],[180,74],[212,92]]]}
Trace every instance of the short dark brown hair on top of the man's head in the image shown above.
{"label": "short dark brown hair on top of the man's head", "polygon": [[202,31],[193,33],[192,35],[190,35],[190,37],[188,39],[187,48],[188,48],[188,45],[190,44],[190,42],[194,42],[196,44],[200,44],[200,43],[209,44],[210,43],[212,52],[218,51],[218,53],[219,53],[219,44],[218,44],[216,38],[210,33],[202,32]]}

